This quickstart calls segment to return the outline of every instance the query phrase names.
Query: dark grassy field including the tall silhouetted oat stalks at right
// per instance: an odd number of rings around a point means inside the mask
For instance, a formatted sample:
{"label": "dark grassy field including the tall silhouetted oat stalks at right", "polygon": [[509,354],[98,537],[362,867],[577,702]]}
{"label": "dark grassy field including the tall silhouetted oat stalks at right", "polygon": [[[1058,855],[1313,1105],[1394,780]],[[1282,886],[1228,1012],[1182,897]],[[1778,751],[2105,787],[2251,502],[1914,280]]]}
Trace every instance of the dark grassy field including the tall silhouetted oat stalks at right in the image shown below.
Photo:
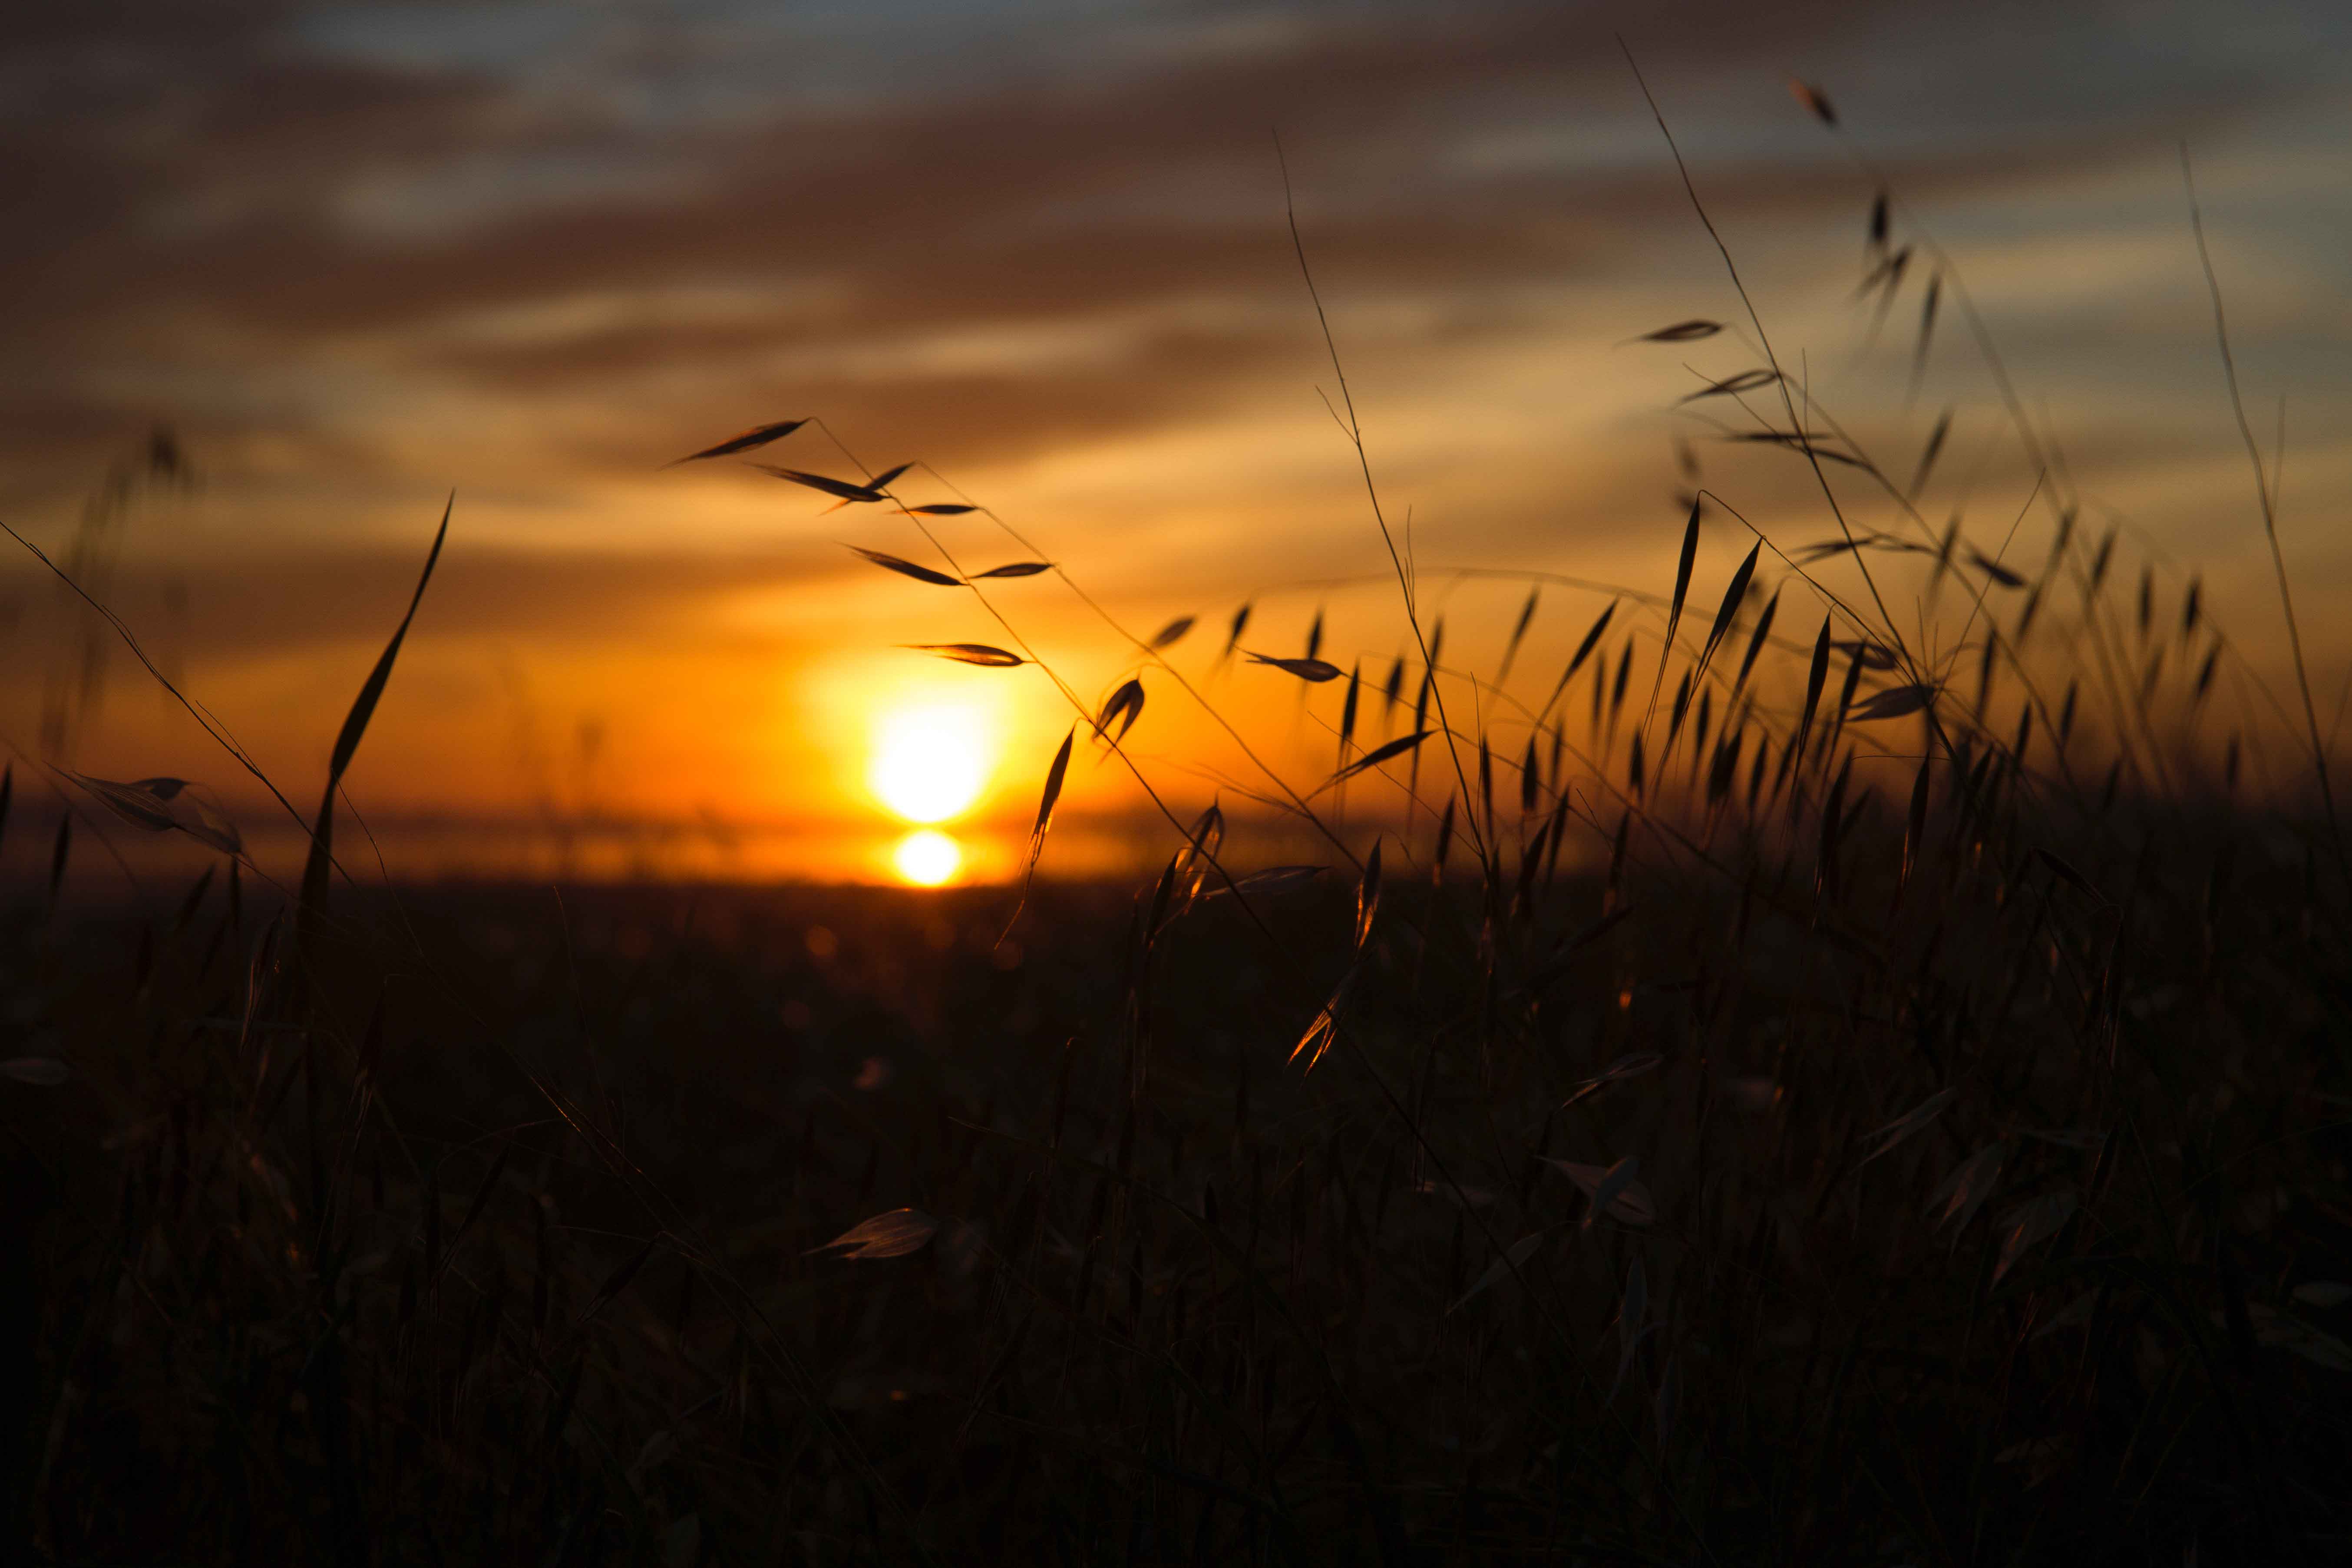
{"label": "dark grassy field including the tall silhouetted oat stalks at right", "polygon": [[1534,712],[1399,555],[1317,877],[16,884],[9,1559],[2345,1561],[2319,719],[2060,465],[1945,531],[1752,376],[1875,522],[1693,583],[1693,494]]}

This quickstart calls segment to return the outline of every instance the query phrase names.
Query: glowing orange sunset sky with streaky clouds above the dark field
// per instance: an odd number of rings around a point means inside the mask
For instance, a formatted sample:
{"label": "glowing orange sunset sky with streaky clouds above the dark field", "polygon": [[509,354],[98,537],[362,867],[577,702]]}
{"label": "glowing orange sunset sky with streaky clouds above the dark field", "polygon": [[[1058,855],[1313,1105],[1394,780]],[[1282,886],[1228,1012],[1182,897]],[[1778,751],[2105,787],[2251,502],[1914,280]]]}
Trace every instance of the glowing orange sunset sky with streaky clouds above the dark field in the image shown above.
{"label": "glowing orange sunset sky with streaky clouds above the dark field", "polygon": [[[1924,510],[1999,541],[2034,475],[1957,313],[1910,393],[1924,261],[1872,334],[1879,176],[1898,242],[1957,263],[2086,512],[2173,581],[2201,569],[2277,675],[2185,143],[2265,456],[2284,421],[2281,536],[2333,710],[2352,9],[2324,0],[19,5],[0,517],[66,559],[108,465],[169,425],[202,484],[139,498],[94,588],[308,806],[454,489],[348,780],[395,870],[522,865],[522,825],[572,820],[626,825],[602,872],[887,877],[927,811],[882,780],[908,715],[969,736],[910,769],[974,773],[953,816],[1011,837],[967,830],[967,875],[1002,870],[1070,724],[1054,686],[898,646],[1004,642],[962,590],[842,548],[938,564],[908,517],[828,512],[739,461],[663,468],[797,416],[873,468],[924,463],[908,501],[985,501],[1138,635],[1200,616],[1171,658],[1310,788],[1331,691],[1211,677],[1228,616],[1254,602],[1244,649],[1296,656],[1324,609],[1324,658],[1367,675],[1406,630],[1324,404],[1277,136],[1383,503],[1411,515],[1458,658],[1491,668],[1526,585],[1449,569],[1670,585],[1677,435],[1776,538],[1825,531],[1802,463],[1672,407],[1757,362],[1738,334],[1625,343],[1743,317],[1618,35],[1783,364],[1893,470],[1955,409]],[[816,425],[748,456],[861,473]],[[941,536],[967,569],[1025,555],[983,517]],[[1705,595],[1745,543],[1708,534]],[[0,741],[31,790],[80,621],[0,548]],[[1056,578],[993,597],[1084,698],[1131,670]],[[1548,588],[1515,689],[1541,701],[1604,602]],[[1136,755],[1197,811],[1188,769],[1244,764],[1169,679],[1145,689]],[[49,762],[198,778],[270,823],[122,649]],[[1075,823],[1129,804],[1115,766],[1073,769]]]}

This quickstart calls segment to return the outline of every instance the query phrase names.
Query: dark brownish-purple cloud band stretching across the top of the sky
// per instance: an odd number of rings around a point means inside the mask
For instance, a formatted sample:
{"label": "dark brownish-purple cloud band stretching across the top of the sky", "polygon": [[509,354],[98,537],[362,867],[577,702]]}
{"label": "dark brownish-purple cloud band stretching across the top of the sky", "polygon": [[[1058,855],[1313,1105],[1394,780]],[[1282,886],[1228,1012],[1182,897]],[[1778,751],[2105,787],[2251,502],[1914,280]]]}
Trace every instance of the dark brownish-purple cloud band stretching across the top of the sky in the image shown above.
{"label": "dark brownish-purple cloud band stretching across the top of the sky", "polygon": [[[1804,127],[1778,96],[1778,59],[1860,35],[1898,61],[1903,26],[1933,35],[1922,16],[1940,12],[1689,5],[1637,35],[1700,139],[1726,113],[1748,122],[1764,94],[1776,139],[1708,188],[1726,221],[1788,221],[1856,205],[1858,181],[1818,148],[1792,153]],[[285,425],[285,407],[240,421],[230,400],[205,407],[167,374],[212,364],[233,378],[285,360],[560,397],[595,428],[567,461],[588,447],[619,465],[659,461],[677,430],[727,423],[769,388],[861,416],[913,409],[910,435],[957,461],[976,456],[976,428],[931,411],[974,400],[1002,402],[988,440],[1014,456],[1145,428],[1247,395],[1296,353],[1277,127],[1317,263],[1355,299],[1611,277],[1661,230],[1686,237],[1599,9],[1207,7],[1183,21],[1103,73],[971,89],[946,78],[903,96],[680,113],[659,129],[609,103],[626,56],[583,68],[564,96],[463,52],[419,63],[414,49],[306,47],[289,7],[226,7],[200,42],[176,7],[125,7],[103,33],[47,28],[26,42],[56,68],[82,59],[64,75],[85,94],[35,94],[35,113],[5,122],[0,167],[16,174],[0,179],[33,242],[0,256],[0,287],[38,306],[7,350],[7,397],[40,430],[7,456],[87,468],[106,409],[125,423]],[[1256,26],[1235,33],[1237,21]],[[89,63],[101,45],[153,78],[153,106],[127,127],[113,125],[125,94]],[[682,49],[691,75],[694,45]],[[2239,101],[2230,85],[2199,108]],[[2117,110],[2063,148],[1952,146],[1893,172],[1931,202],[2046,172],[2053,150],[2074,167],[2126,155],[2150,129],[2145,113]],[[1496,136],[1522,153],[1463,160]],[[713,292],[741,301],[731,317],[668,308]],[[1131,329],[1117,367],[828,369],[875,339],[1047,329],[1197,299],[1247,310],[1225,331]],[[550,301],[602,301],[607,320],[539,339],[466,331]],[[1240,322],[1249,313],[1261,320]],[[696,371],[703,388],[689,386]],[[640,409],[642,447],[621,449],[597,404],[642,404],[647,390],[661,407]],[[334,409],[303,418],[329,425]]]}

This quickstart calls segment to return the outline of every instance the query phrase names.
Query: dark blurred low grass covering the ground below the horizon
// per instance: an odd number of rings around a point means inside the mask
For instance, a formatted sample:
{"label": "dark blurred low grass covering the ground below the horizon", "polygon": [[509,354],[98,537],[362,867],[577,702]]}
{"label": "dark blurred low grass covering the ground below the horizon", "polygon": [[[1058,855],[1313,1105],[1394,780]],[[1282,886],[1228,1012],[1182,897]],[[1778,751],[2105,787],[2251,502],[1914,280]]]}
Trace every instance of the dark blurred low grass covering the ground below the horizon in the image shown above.
{"label": "dark blurred low grass covering the ground below the horizon", "polygon": [[[1390,889],[1312,1074],[1230,900],[1143,1004],[1108,891],[1004,950],[988,893],[416,893],[355,926],[402,964],[327,966],[303,1027],[263,985],[242,1039],[219,893],[38,969],[19,912],[19,1018],[75,1072],[5,1086],[19,1528],[111,1563],[2326,1561],[2340,924],[2241,818],[2084,860],[2105,891],[1945,867],[1851,947],[1628,875],[1541,987],[1599,886],[1519,961],[1477,889]],[[1331,973],[1348,919],[1282,929]],[[1656,1220],[1585,1227],[1543,1157],[1625,1154]],[[934,1246],[809,1253],[896,1206]]]}

